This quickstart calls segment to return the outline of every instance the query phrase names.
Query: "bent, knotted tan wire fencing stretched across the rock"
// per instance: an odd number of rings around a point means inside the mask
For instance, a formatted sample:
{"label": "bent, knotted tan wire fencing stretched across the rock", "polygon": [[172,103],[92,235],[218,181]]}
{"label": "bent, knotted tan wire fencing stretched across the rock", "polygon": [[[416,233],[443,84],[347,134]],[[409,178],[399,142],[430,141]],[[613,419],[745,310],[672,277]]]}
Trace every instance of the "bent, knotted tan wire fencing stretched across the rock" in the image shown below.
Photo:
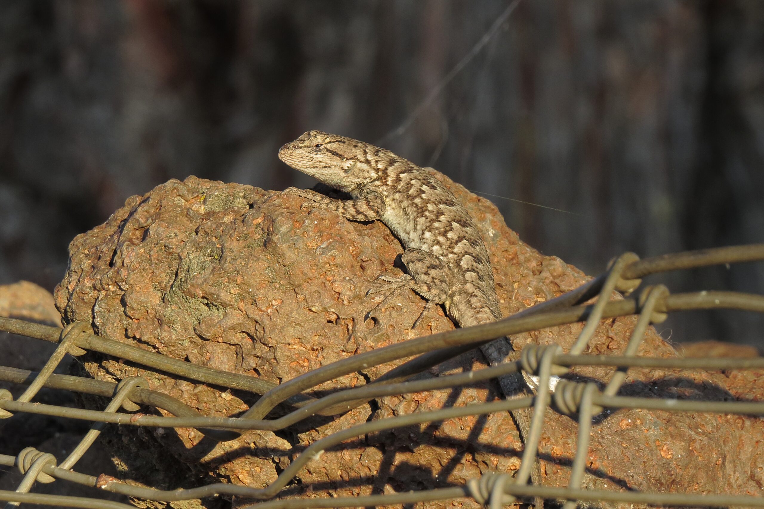
{"label": "bent, knotted tan wire fencing stretched across the rock", "polygon": [[[764,260],[764,244],[676,253],[650,259],[639,259],[633,253],[626,253],[615,259],[606,272],[580,288],[501,321],[395,343],[322,366],[281,385],[274,385],[272,382],[265,382],[247,375],[196,366],[189,362],[147,352],[116,340],[98,337],[92,334],[89,324],[74,323],[61,330],[57,327],[0,317],[0,330],[58,344],[57,350],[50,356],[47,364],[39,373],[0,366],[0,380],[28,385],[24,393],[15,400],[9,391],[0,389],[0,418],[10,417],[13,413],[28,413],[67,417],[92,421],[93,423],[91,430],[86,433],[79,445],[61,462],[52,454],[41,453],[33,447],[21,450],[17,456],[0,455],[0,465],[15,466],[24,474],[24,478],[16,491],[0,491],[0,500],[8,501],[6,507],[14,507],[20,503],[47,504],[59,507],[130,507],[126,504],[99,498],[40,495],[29,492],[35,482],[65,481],[153,501],[182,501],[218,495],[235,495],[261,500],[271,499],[252,506],[262,508],[368,507],[413,504],[454,498],[473,498],[479,504],[501,507],[503,504],[516,501],[517,498],[528,497],[564,501],[565,509],[575,507],[578,501],[613,501],[672,506],[764,507],[764,497],[726,495],[724,493],[686,495],[637,491],[595,491],[581,488],[592,419],[596,414],[600,414],[606,409],[642,408],[672,412],[764,415],[764,402],[759,401],[679,401],[677,399],[617,396],[620,385],[626,379],[626,370],[630,367],[708,370],[764,368],[764,358],[663,359],[636,356],[637,348],[647,327],[652,323],[664,321],[667,314],[674,311],[727,308],[764,312],[764,296],[762,295],[712,291],[672,294],[669,292],[669,288],[664,285],[647,286],[640,292],[635,292],[641,285],[643,277],[656,272],[762,260]],[[623,292],[627,297],[623,300],[611,301],[610,295],[613,291]],[[595,297],[597,299],[594,304],[584,304]],[[630,314],[638,315],[638,319],[623,355],[582,355],[594,329],[602,319]],[[585,323],[584,328],[571,351],[567,354],[563,353],[562,348],[558,345],[527,346],[516,362],[507,362],[487,369],[439,376],[433,379],[406,381],[416,373],[466,350],[487,343],[494,338],[579,321]],[[147,388],[147,382],[141,377],[132,377],[115,384],[53,373],[66,353],[79,356],[86,351],[115,356],[149,369],[182,376],[196,382],[250,391],[261,395],[261,398],[241,417],[206,417],[175,398],[150,390]],[[303,394],[306,390],[322,382],[354,372],[361,367],[406,358],[413,359],[390,370],[386,375],[369,385],[336,391],[320,399]],[[550,377],[565,373],[568,366],[612,366],[615,370],[603,390],[600,390],[593,382],[573,382],[563,379],[554,391],[549,391]],[[244,430],[280,430],[315,414],[338,414],[373,398],[459,387],[519,370],[539,377],[539,391],[535,396],[468,404],[455,408],[442,408],[437,411],[422,411],[387,419],[371,420],[365,424],[350,427],[312,443],[291,462],[290,466],[280,473],[275,482],[265,488],[217,483],[199,488],[163,491],[128,485],[108,475],[95,477],[73,470],[73,466],[95,443],[106,424],[193,427],[213,440],[225,441],[238,437]],[[33,402],[34,396],[40,391],[40,388],[44,387],[106,396],[111,398],[111,401],[103,411],[66,408]],[[267,415],[270,411],[281,403],[290,405],[293,411],[283,417],[268,419]],[[175,417],[134,413],[140,408],[139,405],[161,408]],[[526,437],[520,469],[514,476],[510,476],[506,472],[492,472],[481,476],[481,478],[473,478],[461,486],[406,491],[389,495],[343,498],[277,498],[280,491],[286,487],[296,472],[305,466],[306,462],[318,457],[323,450],[336,446],[345,440],[364,436],[367,433],[406,427],[412,424],[429,423],[467,415],[490,414],[517,408],[533,408],[533,420],[529,436]],[[576,453],[566,488],[528,484],[531,468],[536,462],[546,408],[552,408],[554,411],[578,419]],[[19,444],[19,446],[22,445]]]}

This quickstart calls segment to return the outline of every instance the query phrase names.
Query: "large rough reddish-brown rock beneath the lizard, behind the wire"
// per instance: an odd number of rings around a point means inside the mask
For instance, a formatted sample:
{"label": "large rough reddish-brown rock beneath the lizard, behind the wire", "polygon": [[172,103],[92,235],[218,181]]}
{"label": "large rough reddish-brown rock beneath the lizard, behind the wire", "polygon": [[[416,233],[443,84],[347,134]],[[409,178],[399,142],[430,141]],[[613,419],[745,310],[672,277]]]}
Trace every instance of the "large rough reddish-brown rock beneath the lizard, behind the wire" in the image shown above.
{"label": "large rough reddish-brown rock beneath the lizard, behind the wire", "polygon": [[[522,243],[489,201],[443,179],[483,230],[504,314],[586,280],[561,259],[542,256]],[[398,305],[381,311],[376,321],[364,322],[364,314],[374,306],[364,294],[380,272],[398,270],[393,260],[401,252],[400,243],[379,221],[345,221],[331,211],[302,209],[301,202],[279,192],[195,177],[128,198],[105,224],[71,243],[70,266],[56,291],[57,307],[66,323],[92,322],[102,336],[272,382],[453,327],[435,309],[411,330],[424,304],[413,292],[402,294]],[[588,353],[622,352],[633,324],[633,317],[604,321]],[[580,330],[580,324],[573,324],[518,339],[556,341],[568,348]],[[677,355],[654,330],[646,333],[640,353]],[[151,388],[203,414],[236,414],[254,401],[251,395],[172,379],[118,359],[89,354],[83,360],[95,378],[141,374]],[[318,391],[364,384],[395,364],[347,375]],[[468,353],[430,375],[482,367],[479,353]],[[581,368],[575,373],[605,379],[610,370]],[[753,382],[756,375],[635,371],[622,393],[760,398],[764,386]],[[214,477],[262,487],[306,445],[336,430],[369,419],[487,401],[498,394],[494,384],[485,384],[381,398],[334,420],[311,420],[278,433],[245,433],[228,443],[212,443],[188,429],[119,429],[121,436],[113,435],[111,443],[125,478],[148,485],[186,487]],[[545,482],[567,483],[576,430],[571,418],[547,412],[541,440]],[[764,453],[754,443],[762,435],[761,421],[748,417],[617,411],[594,426],[585,484],[639,491],[758,493]],[[286,493],[342,496],[461,484],[489,470],[513,472],[520,449],[509,414],[394,430],[325,452],[299,472]],[[477,504],[428,504],[451,505]],[[202,507],[199,502],[176,506]]]}

